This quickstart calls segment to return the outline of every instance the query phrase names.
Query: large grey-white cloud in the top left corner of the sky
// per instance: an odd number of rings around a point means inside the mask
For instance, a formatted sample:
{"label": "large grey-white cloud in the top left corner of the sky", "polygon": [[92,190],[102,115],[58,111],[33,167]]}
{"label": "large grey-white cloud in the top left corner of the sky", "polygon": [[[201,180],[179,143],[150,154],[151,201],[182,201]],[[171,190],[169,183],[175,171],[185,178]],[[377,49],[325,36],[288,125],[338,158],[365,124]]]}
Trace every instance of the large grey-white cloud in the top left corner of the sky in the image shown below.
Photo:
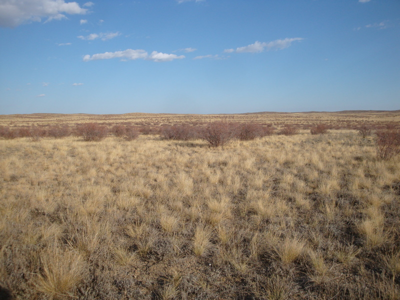
{"label": "large grey-white cloud in the top left corner of the sky", "polygon": [[40,22],[66,18],[65,14],[85,14],[76,2],[64,0],[0,0],[0,26],[14,27],[26,22]]}

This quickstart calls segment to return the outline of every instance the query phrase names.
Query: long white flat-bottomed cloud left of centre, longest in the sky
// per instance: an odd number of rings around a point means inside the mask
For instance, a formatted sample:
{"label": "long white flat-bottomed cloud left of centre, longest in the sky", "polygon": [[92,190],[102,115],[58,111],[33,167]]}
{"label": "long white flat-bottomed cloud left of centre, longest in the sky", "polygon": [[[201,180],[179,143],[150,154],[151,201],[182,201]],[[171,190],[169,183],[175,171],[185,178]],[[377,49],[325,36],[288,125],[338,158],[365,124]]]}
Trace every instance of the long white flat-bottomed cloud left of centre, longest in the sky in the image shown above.
{"label": "long white flat-bottomed cloud left of centre, longest in the sky", "polygon": [[184,58],[184,55],[176,55],[176,54],[167,54],[157,51],[152,51],[151,54],[148,54],[143,49],[126,49],[123,51],[115,51],[115,52],[104,52],[104,53],[97,53],[93,55],[84,55],[83,61],[89,60],[98,60],[98,59],[111,59],[111,58],[121,58],[121,59],[145,59],[145,60],[153,60],[156,62],[160,61],[171,61],[173,59],[181,59]]}

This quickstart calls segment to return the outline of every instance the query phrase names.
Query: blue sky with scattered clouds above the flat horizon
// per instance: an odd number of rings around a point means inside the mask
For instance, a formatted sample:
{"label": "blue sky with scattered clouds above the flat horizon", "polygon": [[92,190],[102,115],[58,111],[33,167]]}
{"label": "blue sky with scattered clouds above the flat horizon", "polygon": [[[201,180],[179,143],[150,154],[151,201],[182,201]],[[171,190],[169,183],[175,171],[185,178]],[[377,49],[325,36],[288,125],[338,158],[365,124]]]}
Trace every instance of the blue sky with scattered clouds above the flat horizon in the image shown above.
{"label": "blue sky with scattered clouds above the flat horizon", "polygon": [[400,109],[399,0],[0,0],[0,114]]}

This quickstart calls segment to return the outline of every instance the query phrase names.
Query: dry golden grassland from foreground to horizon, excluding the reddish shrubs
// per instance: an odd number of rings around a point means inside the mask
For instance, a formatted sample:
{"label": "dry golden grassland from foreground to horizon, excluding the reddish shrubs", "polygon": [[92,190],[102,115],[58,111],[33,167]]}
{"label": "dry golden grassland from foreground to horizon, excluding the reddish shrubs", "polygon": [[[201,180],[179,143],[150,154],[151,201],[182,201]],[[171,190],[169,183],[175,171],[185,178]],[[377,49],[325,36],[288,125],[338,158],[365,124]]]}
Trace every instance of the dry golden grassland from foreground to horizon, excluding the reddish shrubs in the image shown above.
{"label": "dry golden grassland from foreground to horizon, excluding the reddish shrubs", "polygon": [[[234,140],[0,139],[0,295],[399,299],[400,157],[361,124],[400,111],[2,115],[0,125],[294,124]],[[309,126],[327,124],[326,134]],[[2,293],[2,294],[1,294]]]}

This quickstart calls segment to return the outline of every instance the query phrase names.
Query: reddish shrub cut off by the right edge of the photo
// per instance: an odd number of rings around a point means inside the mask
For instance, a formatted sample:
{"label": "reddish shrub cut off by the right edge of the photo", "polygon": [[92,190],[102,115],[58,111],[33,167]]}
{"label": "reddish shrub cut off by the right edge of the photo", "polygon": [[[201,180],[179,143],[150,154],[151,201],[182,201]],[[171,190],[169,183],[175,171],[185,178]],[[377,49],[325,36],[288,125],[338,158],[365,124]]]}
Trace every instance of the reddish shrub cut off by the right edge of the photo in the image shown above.
{"label": "reddish shrub cut off by the right edge of the photo", "polygon": [[376,154],[380,159],[390,159],[400,153],[400,130],[383,129],[376,132]]}

